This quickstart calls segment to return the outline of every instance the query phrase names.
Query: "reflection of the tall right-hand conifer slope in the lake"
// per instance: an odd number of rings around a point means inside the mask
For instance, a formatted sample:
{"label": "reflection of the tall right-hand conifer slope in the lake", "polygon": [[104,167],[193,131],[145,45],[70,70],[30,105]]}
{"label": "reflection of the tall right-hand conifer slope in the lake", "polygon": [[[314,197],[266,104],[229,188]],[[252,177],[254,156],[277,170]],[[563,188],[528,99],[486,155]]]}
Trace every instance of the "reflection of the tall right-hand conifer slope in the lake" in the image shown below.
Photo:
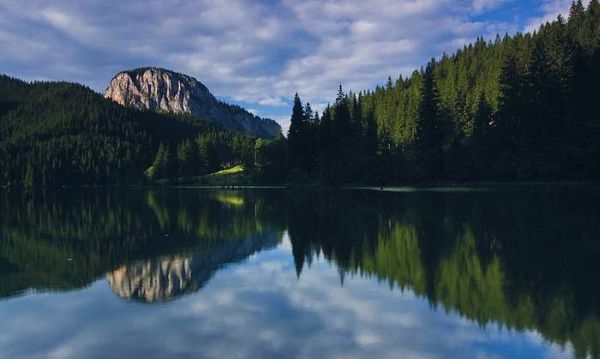
{"label": "reflection of the tall right-hand conifer slope in the lake", "polygon": [[290,202],[299,273],[322,253],[345,275],[600,357],[600,202],[590,191],[344,192]]}

